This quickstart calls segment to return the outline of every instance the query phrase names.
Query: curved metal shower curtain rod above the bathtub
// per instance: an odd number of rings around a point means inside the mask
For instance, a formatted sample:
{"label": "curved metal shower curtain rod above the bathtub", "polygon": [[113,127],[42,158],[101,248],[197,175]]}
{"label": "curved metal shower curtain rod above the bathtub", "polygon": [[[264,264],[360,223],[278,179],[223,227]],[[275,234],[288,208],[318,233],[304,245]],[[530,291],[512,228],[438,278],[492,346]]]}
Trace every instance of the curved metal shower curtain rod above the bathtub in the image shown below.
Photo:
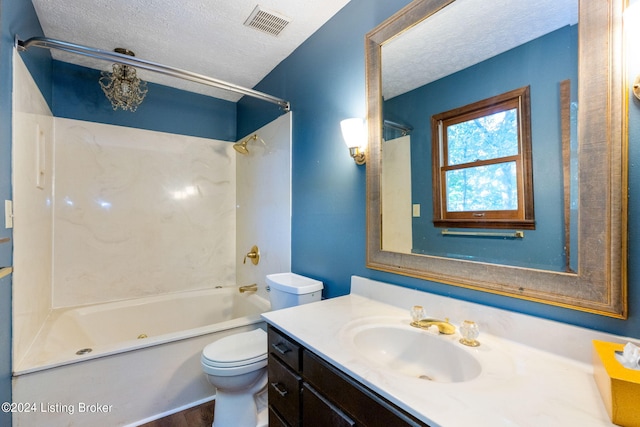
{"label": "curved metal shower curtain rod above the bathtub", "polygon": [[271,102],[272,104],[279,105],[285,112],[291,111],[291,104],[289,103],[289,101],[276,98],[275,96],[272,96],[263,92],[259,92],[257,90],[248,89],[233,83],[228,83],[223,80],[214,79],[213,77],[207,77],[202,74],[193,73],[191,71],[169,67],[168,65],[158,64],[156,62],[147,61],[144,59],[136,58],[134,56],[124,55],[116,52],[109,52],[106,50],[82,46],[79,44],[69,43],[62,40],[55,40],[48,37],[32,37],[25,41],[19,40],[16,37],[16,48],[19,51],[26,51],[32,46],[41,47],[45,49],[58,49],[65,52],[75,53],[78,55],[89,56],[95,59],[118,62],[120,64],[129,65],[129,66],[141,68],[144,70],[154,71],[159,74],[177,77],[179,79],[200,83],[206,86],[212,86],[218,89],[224,89],[231,92],[236,92],[243,95],[251,96],[253,98],[262,99],[263,101],[267,101],[267,102]]}

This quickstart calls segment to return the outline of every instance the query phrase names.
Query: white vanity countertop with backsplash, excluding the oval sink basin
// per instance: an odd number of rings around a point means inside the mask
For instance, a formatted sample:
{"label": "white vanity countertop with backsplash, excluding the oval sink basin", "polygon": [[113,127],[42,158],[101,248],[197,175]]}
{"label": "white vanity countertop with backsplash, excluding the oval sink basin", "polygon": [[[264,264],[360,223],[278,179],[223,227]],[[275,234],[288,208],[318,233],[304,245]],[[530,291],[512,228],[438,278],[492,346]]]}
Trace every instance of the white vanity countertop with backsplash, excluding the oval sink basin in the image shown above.
{"label": "white vanity countertop with backsplash, excluding the oval sink basin", "polygon": [[[352,282],[350,295],[265,313],[263,317],[306,348],[431,426],[614,425],[600,398],[592,366],[585,362],[591,359],[590,340],[602,339],[601,333],[390,287],[367,279],[354,280],[360,282],[356,286]],[[376,292],[378,286],[380,292]],[[451,340],[474,355],[482,365],[482,373],[478,377],[457,383],[409,377],[365,359],[351,344],[349,331],[354,322],[374,321],[395,327],[406,325],[406,328],[415,330],[409,326],[409,300],[414,301],[412,304],[424,305],[429,316],[433,315],[428,309],[429,304],[436,302],[439,310],[450,309],[452,313],[462,311],[464,315],[470,313],[475,316],[471,320],[481,327],[479,347],[459,344],[457,332],[436,338]],[[483,315],[490,319],[485,320]],[[461,320],[451,316],[456,327]],[[492,330],[501,336],[491,334]],[[520,339],[531,341],[533,345],[505,338],[509,331],[519,333]],[[521,336],[523,334],[545,337],[538,343],[537,339]],[[567,335],[571,338],[567,339]],[[567,345],[572,349],[558,349],[557,352],[541,349],[553,347],[554,336],[558,346]],[[589,354],[579,361],[565,355],[572,351],[589,351]]]}

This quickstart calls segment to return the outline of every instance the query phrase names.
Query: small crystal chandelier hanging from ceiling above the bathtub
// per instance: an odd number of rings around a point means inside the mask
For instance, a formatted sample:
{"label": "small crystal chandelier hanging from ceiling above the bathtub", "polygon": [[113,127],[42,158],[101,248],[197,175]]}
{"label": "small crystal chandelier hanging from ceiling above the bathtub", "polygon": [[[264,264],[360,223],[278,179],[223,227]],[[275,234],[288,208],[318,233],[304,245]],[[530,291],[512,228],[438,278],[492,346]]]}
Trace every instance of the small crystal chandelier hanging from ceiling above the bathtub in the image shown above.
{"label": "small crystal chandelier hanging from ceiling above the bathtub", "polygon": [[[133,52],[123,48],[116,48],[114,52],[135,56]],[[112,73],[103,71],[99,82],[114,110],[121,108],[136,111],[148,91],[147,82],[138,78],[136,69],[124,64],[113,64]]]}

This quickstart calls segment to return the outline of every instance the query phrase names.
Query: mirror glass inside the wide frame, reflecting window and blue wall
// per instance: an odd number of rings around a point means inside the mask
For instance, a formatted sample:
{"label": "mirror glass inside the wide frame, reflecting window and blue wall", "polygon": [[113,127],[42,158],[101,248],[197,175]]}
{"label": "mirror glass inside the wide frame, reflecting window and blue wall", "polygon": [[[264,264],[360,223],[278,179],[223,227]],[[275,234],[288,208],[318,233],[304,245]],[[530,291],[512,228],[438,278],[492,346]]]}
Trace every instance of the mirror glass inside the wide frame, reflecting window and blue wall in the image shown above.
{"label": "mirror glass inside the wide frame, reflecting window and blue wall", "polygon": [[[575,185],[571,191],[571,178],[577,177],[577,24],[578,0],[456,0],[382,45],[383,250],[577,269]],[[499,99],[524,90],[526,98],[509,103],[515,107],[512,137],[470,120],[454,149],[440,150],[451,138],[438,138],[446,132],[429,119],[440,126],[447,122],[438,117],[468,120],[473,111],[481,114],[480,105],[495,110]],[[390,122],[411,131],[402,135]],[[461,144],[465,135],[473,138]],[[432,159],[433,150],[438,153]],[[517,159],[500,163],[494,159],[498,150]],[[446,174],[438,173],[439,151],[455,165]],[[462,164],[470,161],[477,166]],[[386,183],[405,174],[403,183]],[[451,187],[443,187],[445,182]]]}

